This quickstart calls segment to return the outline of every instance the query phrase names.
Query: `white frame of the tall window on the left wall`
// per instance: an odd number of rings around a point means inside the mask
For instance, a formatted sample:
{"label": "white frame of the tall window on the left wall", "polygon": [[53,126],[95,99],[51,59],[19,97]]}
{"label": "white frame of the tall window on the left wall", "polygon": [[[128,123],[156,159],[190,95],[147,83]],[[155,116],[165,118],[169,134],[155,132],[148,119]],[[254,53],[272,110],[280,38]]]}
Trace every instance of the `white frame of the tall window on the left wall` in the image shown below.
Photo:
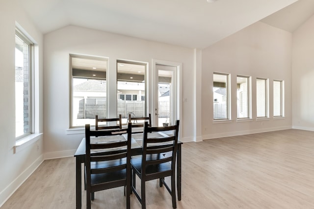
{"label": "white frame of the tall window on the left wall", "polygon": [[[23,33],[18,28],[15,28],[15,37],[16,36],[19,37],[24,43],[28,45],[28,132],[24,133],[23,135],[15,137],[15,140],[19,141],[34,133],[34,78],[33,78],[33,75],[34,75],[34,50],[35,50],[34,45],[35,44],[30,40],[30,38],[26,36],[25,33]],[[16,101],[15,101],[15,104],[16,104]],[[16,115],[16,112],[15,112],[15,115]]]}

